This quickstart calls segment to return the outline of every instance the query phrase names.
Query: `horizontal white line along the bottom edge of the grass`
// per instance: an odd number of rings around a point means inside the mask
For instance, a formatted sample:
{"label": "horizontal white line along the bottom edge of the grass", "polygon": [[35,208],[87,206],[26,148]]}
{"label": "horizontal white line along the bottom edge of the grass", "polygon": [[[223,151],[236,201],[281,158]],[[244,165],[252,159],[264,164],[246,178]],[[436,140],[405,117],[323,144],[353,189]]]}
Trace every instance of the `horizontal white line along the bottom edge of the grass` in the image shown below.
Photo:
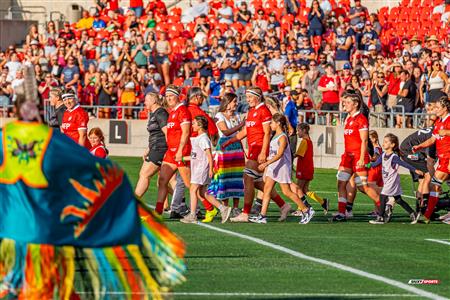
{"label": "horizontal white line along the bottom edge of the grass", "polygon": [[[89,292],[79,292],[78,294],[92,294]],[[105,292],[105,295],[144,295],[146,293],[127,293],[127,292]],[[362,298],[362,297],[419,297],[413,294],[338,294],[338,293],[204,293],[204,292],[173,292],[161,293],[163,296],[199,296],[199,297],[346,297],[346,298]]]}

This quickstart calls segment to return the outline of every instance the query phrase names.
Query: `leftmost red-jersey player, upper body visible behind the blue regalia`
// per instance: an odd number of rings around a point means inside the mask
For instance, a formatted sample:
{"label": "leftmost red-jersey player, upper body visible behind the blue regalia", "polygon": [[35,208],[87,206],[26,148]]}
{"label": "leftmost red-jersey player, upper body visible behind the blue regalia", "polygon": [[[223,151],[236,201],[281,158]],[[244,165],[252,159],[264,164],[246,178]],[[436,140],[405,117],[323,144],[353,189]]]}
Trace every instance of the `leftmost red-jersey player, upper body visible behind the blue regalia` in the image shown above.
{"label": "leftmost red-jersey player, upper body visible behind the blue regalia", "polygon": [[61,132],[74,140],[80,146],[91,148],[87,139],[87,124],[89,116],[78,104],[75,93],[71,90],[62,95],[66,111],[64,112]]}

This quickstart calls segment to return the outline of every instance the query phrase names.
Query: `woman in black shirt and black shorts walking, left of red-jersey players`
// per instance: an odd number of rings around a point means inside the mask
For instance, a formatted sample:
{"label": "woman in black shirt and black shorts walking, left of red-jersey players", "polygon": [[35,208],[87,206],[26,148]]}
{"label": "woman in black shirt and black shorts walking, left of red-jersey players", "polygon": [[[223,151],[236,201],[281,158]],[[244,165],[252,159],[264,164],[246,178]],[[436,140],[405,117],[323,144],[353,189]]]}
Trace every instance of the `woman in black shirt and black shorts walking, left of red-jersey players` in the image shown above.
{"label": "woman in black shirt and black shorts walking, left of red-jersey players", "polygon": [[145,95],[144,105],[150,111],[147,124],[149,137],[148,148],[142,157],[143,163],[134,191],[138,197],[142,197],[147,191],[150,179],[158,173],[167,151],[166,126],[169,113],[162,107],[162,99],[157,93],[150,92]]}

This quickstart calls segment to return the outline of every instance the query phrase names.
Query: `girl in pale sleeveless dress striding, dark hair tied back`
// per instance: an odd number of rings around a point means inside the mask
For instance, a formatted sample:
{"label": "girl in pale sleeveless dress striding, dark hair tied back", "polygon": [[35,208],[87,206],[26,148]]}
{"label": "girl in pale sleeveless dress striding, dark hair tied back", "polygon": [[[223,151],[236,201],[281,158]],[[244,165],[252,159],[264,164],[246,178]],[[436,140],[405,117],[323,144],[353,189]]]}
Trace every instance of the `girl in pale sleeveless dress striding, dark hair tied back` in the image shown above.
{"label": "girl in pale sleeveless dress striding, dark hair tied back", "polygon": [[279,113],[273,115],[270,128],[272,131],[275,131],[275,135],[270,141],[269,157],[265,163],[259,165],[260,171],[266,170],[261,213],[256,217],[251,217],[249,221],[260,224],[267,223],[266,215],[270,194],[275,188],[275,184],[278,183],[281,187],[281,192],[294,201],[298,205],[298,210],[303,212],[300,224],[307,224],[315,212],[312,207],[308,208],[305,206],[298,195],[291,189],[292,154],[289,148],[289,138],[286,135],[286,117]]}

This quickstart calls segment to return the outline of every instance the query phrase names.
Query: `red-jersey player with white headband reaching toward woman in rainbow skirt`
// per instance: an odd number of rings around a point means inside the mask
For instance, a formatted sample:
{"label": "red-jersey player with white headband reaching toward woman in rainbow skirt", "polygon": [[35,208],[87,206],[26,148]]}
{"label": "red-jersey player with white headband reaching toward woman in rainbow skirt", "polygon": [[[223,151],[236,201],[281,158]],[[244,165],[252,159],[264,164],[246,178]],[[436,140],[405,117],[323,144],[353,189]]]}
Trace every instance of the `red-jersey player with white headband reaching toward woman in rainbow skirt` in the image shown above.
{"label": "red-jersey player with white headband reaching toward woman in rainbow skirt", "polygon": [[[248,222],[248,215],[253,204],[255,188],[264,190],[263,174],[258,171],[258,166],[266,162],[269,154],[270,143],[270,121],[272,114],[264,104],[263,94],[259,87],[250,87],[246,91],[247,102],[250,110],[247,114],[245,127],[235,137],[226,141],[222,148],[247,137],[248,155],[244,169],[244,209],[241,214],[231,218],[231,222]],[[272,190],[271,199],[281,209],[279,221],[284,221],[291,209],[291,206]]]}

